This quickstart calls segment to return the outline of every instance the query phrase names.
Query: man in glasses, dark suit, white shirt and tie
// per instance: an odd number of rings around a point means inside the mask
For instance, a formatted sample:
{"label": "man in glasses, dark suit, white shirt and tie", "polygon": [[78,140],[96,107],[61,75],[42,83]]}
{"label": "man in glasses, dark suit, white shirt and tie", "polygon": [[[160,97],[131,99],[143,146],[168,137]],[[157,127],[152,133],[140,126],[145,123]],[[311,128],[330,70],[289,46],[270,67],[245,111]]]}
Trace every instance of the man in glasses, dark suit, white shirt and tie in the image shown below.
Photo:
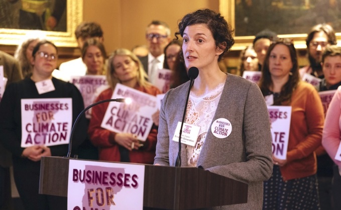
{"label": "man in glasses, dark suit, white shirt and tie", "polygon": [[148,74],[148,80],[154,84],[156,70],[163,68],[165,60],[164,49],[170,42],[169,26],[162,21],[152,21],[146,29],[146,41],[149,53],[140,57],[140,61]]}

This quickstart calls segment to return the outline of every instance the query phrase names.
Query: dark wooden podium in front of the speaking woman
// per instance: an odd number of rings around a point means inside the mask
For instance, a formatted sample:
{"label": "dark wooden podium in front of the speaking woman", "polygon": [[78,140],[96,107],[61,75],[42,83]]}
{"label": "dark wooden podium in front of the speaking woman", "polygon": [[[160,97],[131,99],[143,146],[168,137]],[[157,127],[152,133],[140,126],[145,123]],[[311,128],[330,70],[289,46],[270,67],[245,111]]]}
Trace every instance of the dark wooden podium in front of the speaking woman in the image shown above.
{"label": "dark wooden podium in front of the speaking woman", "polygon": [[[40,194],[67,197],[69,160],[42,157]],[[144,207],[193,209],[246,203],[247,199],[246,183],[199,168],[145,165]]]}

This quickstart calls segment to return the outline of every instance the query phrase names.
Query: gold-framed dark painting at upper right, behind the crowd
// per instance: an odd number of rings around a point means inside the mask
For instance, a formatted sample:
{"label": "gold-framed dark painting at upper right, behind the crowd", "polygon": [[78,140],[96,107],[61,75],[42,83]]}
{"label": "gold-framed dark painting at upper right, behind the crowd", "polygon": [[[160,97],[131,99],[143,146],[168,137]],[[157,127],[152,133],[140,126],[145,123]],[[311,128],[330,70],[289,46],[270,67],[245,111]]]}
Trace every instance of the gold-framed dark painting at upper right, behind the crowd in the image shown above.
{"label": "gold-framed dark painting at upper right, behind the crowd", "polygon": [[331,25],[341,38],[341,0],[219,0],[219,11],[235,29],[235,50],[265,29],[292,38],[297,49],[306,48],[307,33],[317,24]]}

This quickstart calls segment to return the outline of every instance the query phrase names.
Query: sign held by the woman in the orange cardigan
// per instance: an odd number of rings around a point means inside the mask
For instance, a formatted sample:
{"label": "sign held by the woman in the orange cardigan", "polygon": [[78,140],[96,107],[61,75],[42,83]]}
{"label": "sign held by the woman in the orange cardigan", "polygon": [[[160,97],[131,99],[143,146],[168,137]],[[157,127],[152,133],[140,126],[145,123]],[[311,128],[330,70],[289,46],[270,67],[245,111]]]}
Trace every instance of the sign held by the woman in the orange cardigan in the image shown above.
{"label": "sign held by the woman in the orange cardigan", "polygon": [[268,106],[272,134],[272,154],[278,159],[287,157],[291,106]]}

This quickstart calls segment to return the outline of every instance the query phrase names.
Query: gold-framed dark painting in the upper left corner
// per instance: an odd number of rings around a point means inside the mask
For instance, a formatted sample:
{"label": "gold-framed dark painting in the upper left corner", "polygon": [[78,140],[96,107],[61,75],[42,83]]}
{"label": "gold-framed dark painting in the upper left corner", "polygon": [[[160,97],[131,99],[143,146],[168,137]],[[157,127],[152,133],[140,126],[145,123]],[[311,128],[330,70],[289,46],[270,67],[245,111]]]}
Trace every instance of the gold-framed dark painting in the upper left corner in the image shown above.
{"label": "gold-framed dark painting in the upper left corner", "polygon": [[77,47],[82,12],[83,0],[0,0],[0,45],[18,45],[37,32],[58,47]]}

